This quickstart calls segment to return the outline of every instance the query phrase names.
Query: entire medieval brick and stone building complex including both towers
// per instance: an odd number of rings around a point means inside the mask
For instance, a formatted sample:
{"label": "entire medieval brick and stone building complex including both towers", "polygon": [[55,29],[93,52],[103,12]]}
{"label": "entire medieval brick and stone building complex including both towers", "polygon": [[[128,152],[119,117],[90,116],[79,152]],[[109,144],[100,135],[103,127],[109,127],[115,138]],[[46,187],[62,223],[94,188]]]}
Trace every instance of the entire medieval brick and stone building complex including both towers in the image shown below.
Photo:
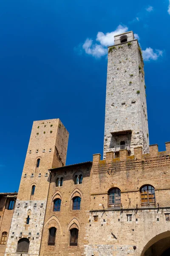
{"label": "entire medieval brick and stone building complex including both towers", "polygon": [[170,143],[149,145],[133,32],[108,47],[103,160],[65,166],[67,145],[59,119],[34,122],[18,195],[0,195],[0,256],[170,255]]}

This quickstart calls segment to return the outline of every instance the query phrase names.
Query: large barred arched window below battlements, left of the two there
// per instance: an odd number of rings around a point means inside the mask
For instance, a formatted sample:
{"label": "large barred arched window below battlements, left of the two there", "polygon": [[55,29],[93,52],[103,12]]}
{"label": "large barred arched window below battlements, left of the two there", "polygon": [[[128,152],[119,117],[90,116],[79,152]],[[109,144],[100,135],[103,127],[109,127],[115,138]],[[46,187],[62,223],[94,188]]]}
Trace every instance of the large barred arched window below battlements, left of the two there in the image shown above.
{"label": "large barred arched window below battlements, left of the two there", "polygon": [[110,189],[109,192],[109,207],[112,208],[120,208],[120,189],[113,188]]}

